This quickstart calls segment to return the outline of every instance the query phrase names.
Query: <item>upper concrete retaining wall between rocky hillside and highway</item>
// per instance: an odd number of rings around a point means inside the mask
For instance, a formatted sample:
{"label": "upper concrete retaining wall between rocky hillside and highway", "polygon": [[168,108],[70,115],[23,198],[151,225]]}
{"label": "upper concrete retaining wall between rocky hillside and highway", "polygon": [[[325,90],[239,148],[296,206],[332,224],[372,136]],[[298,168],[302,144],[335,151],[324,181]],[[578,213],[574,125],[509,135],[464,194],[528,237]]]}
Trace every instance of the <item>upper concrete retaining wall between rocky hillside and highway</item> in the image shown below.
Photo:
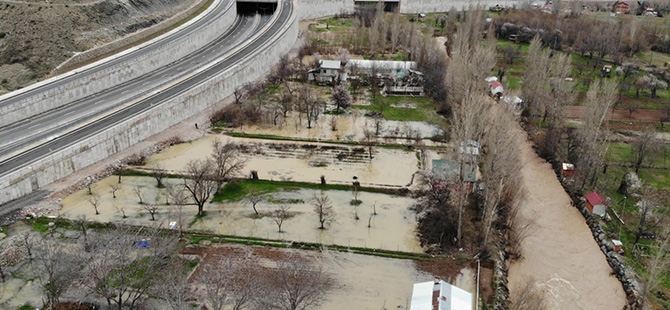
{"label": "upper concrete retaining wall between rocky hillside and highway", "polygon": [[[204,12],[204,14],[213,10],[220,1],[221,0],[215,0],[212,6],[210,6],[207,11]],[[231,1],[227,4],[225,15],[222,18],[218,18],[214,22],[205,25],[192,35],[182,37],[179,40],[173,40],[167,44],[164,44],[160,49],[156,49],[150,53],[142,53],[141,55],[133,57],[132,59],[129,59],[121,64],[97,72],[95,75],[87,75],[86,77],[76,79],[46,93],[40,93],[39,95],[14,102],[11,105],[0,107],[0,127],[61,107],[72,101],[103,91],[110,86],[118,85],[120,83],[137,78],[143,74],[154,71],[160,67],[185,57],[186,55],[206,46],[208,43],[212,42],[214,39],[228,30],[230,26],[232,26],[237,16],[236,4],[236,1]],[[195,20],[192,20],[188,24],[193,22],[195,22]],[[160,38],[155,40],[160,40]],[[144,48],[151,42],[154,42],[154,40],[142,44],[141,46],[129,49],[123,53],[117,54],[114,57],[126,55],[137,49]],[[89,67],[99,65],[100,63],[108,60],[109,59],[101,60],[76,71],[85,70]],[[137,64],[142,65],[138,66]],[[29,89],[37,88],[41,85],[53,82],[54,80],[61,79],[65,76],[71,76],[73,74],[76,73],[70,72],[63,76],[49,79],[29,87]],[[10,93],[11,96],[16,94],[17,93]]]}

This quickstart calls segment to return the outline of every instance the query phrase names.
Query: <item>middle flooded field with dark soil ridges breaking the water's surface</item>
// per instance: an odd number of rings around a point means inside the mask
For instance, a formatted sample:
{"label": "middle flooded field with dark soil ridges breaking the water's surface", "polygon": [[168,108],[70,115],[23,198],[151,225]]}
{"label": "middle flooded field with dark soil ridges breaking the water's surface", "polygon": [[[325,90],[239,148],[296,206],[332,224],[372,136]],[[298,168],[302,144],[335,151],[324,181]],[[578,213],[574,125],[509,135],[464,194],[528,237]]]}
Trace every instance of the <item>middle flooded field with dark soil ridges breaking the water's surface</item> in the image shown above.
{"label": "middle flooded field with dark soil ridges breaking the water's surface", "polygon": [[[212,144],[219,140],[242,143],[253,150],[244,154],[247,159],[242,175],[251,170],[265,180],[291,180],[318,183],[320,176],[328,183],[351,184],[357,176],[363,186],[402,187],[412,182],[418,160],[414,151],[310,142],[241,139],[223,135],[206,135],[198,140],[169,147],[153,155],[146,166],[163,165],[171,171],[183,170],[193,159],[206,159],[212,153]],[[338,158],[342,154],[346,158]],[[402,163],[402,164],[398,164]],[[393,167],[393,169],[389,169]]]}

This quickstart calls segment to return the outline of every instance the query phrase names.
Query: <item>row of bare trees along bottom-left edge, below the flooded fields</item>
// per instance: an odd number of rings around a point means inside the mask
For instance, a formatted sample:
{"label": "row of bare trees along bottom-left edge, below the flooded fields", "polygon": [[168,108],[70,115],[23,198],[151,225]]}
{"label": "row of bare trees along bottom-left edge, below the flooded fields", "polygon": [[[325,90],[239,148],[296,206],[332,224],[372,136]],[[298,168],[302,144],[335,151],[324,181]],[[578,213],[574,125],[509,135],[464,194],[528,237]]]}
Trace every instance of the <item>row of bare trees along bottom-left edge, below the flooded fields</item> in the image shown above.
{"label": "row of bare trees along bottom-left edge, below the flooded fields", "polygon": [[[57,305],[73,291],[104,300],[107,309],[141,309],[150,298],[173,310],[307,309],[317,307],[333,281],[321,265],[298,255],[261,265],[227,255],[201,264],[191,275],[177,255],[177,242],[158,228],[117,226],[85,229],[87,246],[50,232],[32,238],[31,264],[45,305]],[[272,279],[269,281],[269,279]],[[163,306],[160,306],[163,307]],[[163,308],[165,309],[165,308]]]}

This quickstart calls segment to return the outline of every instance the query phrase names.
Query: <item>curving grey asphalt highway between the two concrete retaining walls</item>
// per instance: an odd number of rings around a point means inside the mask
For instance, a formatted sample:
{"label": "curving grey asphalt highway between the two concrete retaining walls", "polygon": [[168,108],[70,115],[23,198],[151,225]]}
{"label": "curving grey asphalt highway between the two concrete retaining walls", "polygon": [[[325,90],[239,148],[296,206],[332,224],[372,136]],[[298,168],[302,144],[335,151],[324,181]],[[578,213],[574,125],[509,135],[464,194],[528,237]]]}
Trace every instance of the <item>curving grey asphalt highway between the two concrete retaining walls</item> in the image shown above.
{"label": "curving grey asphalt highway between the two concrete retaining walls", "polygon": [[[267,24],[270,16],[238,16],[238,20],[236,20],[231,31],[221,36],[216,43],[208,45],[188,58],[149,73],[147,76],[135,79],[132,82],[118,85],[104,93],[84,98],[74,103],[72,107],[45,113],[33,120],[21,122],[19,126],[4,128],[0,132],[0,158],[3,158],[0,161],[0,175],[27,166],[34,160],[51,152],[101,132],[124,119],[155,108],[170,98],[208,80],[209,77],[227,70],[239,62],[245,55],[261,47],[281,30],[294,9],[291,1],[284,1],[282,7],[280,16],[273,21],[272,25],[269,25],[267,31],[260,34],[253,42],[244,45],[243,48],[236,50],[229,57],[202,72],[193,74],[197,68],[230,52],[240,42],[247,40],[254,33],[258,32]],[[160,92],[157,91],[158,88],[165,86],[170,81],[180,79],[182,80],[176,85],[171,85]],[[138,93],[138,90],[144,91]],[[102,113],[118,108],[119,104],[126,102],[129,98],[146,96],[148,98],[142,98],[132,105],[125,106],[120,110],[91,122],[91,119],[100,117]],[[89,110],[96,110],[96,112]],[[56,126],[53,126],[54,123],[56,123]],[[31,130],[47,126],[52,128],[43,130],[40,134],[25,134]],[[65,128],[70,128],[71,130],[61,134]],[[20,134],[19,131],[24,134]],[[24,138],[19,141],[20,137]],[[22,150],[22,147],[26,148],[26,150]],[[19,154],[15,154],[17,150],[20,150],[18,151]]]}

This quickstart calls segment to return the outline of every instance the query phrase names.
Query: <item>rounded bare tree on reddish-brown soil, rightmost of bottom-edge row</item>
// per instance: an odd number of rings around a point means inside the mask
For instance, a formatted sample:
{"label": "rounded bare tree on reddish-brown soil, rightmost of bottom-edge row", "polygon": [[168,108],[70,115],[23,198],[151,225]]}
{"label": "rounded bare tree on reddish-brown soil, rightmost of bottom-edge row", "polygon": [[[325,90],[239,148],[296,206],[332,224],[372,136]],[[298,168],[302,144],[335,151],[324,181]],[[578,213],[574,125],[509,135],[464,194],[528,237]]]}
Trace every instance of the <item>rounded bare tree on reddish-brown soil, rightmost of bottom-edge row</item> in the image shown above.
{"label": "rounded bare tree on reddish-brown soil, rightmost of bottom-edge row", "polygon": [[267,283],[267,291],[257,300],[264,309],[318,309],[333,286],[321,265],[298,256],[278,261],[268,278],[274,280]]}

